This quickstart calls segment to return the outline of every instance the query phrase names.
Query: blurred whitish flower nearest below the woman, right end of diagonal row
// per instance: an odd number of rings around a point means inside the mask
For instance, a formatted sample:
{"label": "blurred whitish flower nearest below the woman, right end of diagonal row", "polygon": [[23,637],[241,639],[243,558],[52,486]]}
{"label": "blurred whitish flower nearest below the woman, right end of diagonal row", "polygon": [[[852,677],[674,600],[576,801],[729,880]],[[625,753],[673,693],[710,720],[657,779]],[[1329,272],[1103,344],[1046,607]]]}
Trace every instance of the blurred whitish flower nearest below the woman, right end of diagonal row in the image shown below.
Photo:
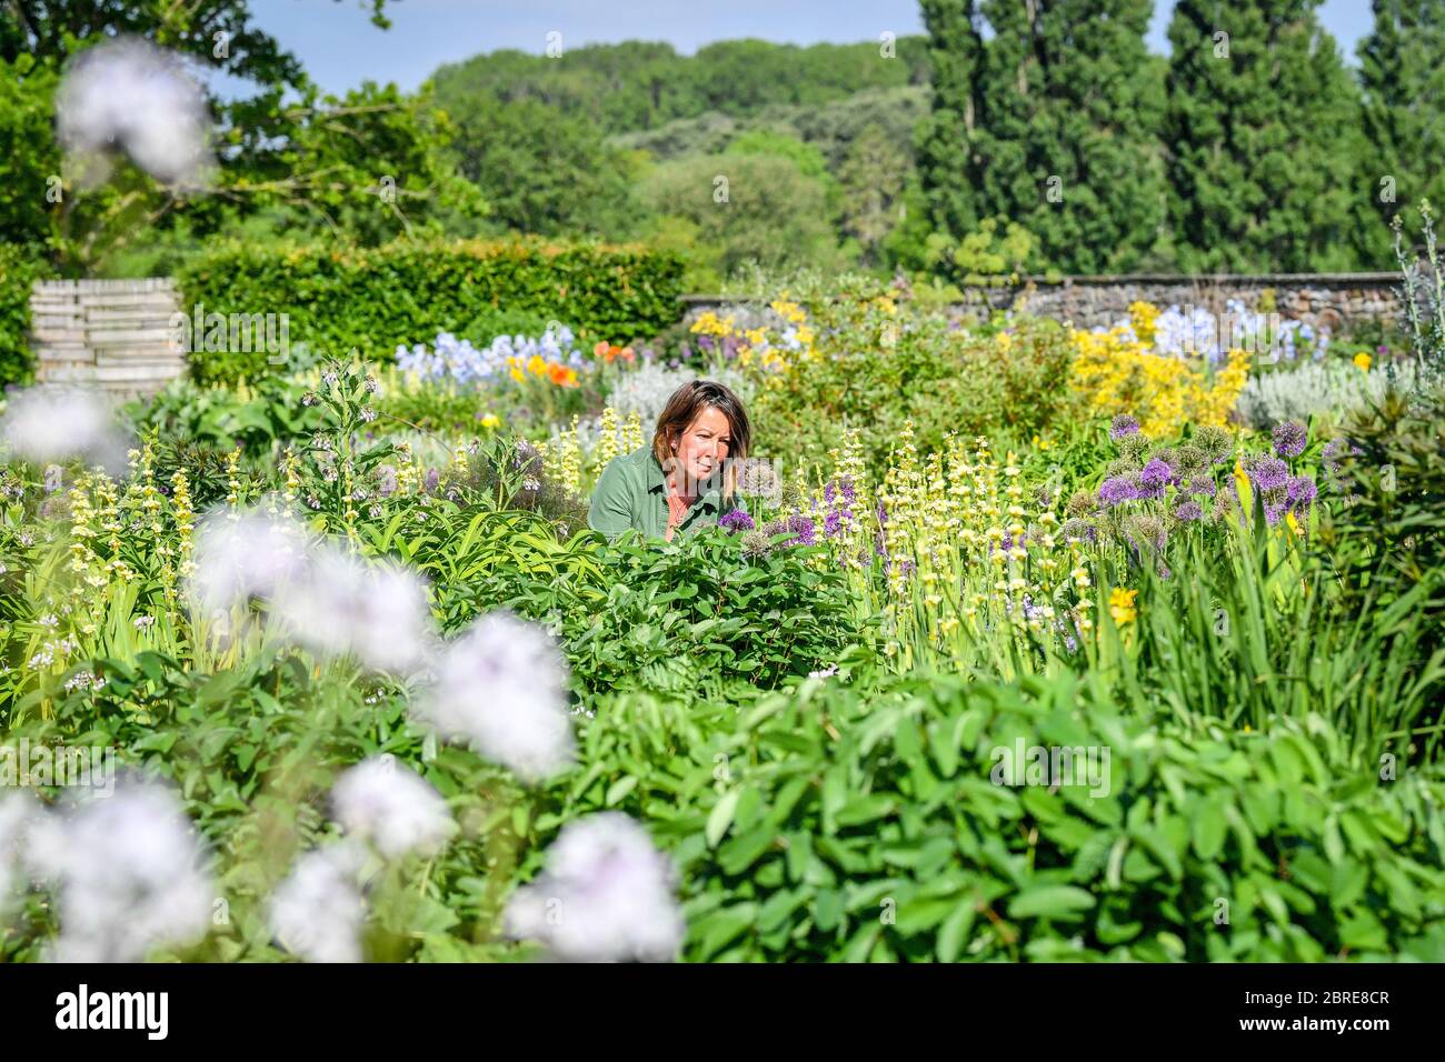
{"label": "blurred whitish flower nearest below the woman, right end of diagonal row", "polygon": [[419,712],[526,782],[574,759],[566,660],[546,631],[509,613],[483,617],[447,646]]}

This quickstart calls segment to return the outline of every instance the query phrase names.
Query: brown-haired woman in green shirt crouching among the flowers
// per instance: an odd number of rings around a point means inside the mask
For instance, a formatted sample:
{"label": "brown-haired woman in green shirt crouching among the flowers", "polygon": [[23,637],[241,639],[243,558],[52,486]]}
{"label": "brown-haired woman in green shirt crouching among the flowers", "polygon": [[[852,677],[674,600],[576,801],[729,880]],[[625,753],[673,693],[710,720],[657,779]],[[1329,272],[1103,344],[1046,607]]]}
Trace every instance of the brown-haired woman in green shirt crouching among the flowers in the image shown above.
{"label": "brown-haired woman in green shirt crouching among the flowers", "polygon": [[668,542],[715,524],[734,507],[731,461],[747,457],[751,433],[731,390],[708,380],[682,384],[657,418],[652,445],[603,470],[587,523],[608,539],[630,527]]}

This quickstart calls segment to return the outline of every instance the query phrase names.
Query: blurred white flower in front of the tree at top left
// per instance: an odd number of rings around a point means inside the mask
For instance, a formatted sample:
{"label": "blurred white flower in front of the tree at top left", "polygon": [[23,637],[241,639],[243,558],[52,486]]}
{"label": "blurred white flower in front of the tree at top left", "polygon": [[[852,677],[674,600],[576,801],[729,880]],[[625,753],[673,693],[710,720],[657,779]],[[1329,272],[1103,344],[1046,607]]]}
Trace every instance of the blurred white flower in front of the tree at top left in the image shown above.
{"label": "blurred white flower in front of the tree at top left", "polygon": [[110,152],[126,152],[166,185],[201,188],[207,147],[205,95],[178,56],[139,38],[120,38],[75,59],[55,97],[61,143],[84,169]]}

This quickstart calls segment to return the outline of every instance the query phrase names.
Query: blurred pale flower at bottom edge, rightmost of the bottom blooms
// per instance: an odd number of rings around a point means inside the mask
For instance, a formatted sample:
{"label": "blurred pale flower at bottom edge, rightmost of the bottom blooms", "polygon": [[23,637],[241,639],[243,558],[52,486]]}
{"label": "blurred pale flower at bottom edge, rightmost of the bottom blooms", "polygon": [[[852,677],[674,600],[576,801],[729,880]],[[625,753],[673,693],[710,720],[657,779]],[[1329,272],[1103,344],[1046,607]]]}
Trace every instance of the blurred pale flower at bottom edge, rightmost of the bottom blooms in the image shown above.
{"label": "blurred pale flower at bottom edge, rightmost of the bottom blooms", "polygon": [[569,822],[546,851],[546,870],[513,893],[512,938],[540,941],[569,962],[668,962],[686,923],[672,861],[621,812]]}

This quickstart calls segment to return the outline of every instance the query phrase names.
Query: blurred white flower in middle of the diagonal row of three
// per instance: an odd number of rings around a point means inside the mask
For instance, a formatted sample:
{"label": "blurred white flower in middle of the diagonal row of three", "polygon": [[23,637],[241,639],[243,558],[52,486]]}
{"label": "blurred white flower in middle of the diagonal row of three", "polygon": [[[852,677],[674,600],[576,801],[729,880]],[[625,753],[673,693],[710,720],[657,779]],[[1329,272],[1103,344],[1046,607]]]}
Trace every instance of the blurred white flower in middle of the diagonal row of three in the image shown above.
{"label": "blurred white flower in middle of the diagonal row of three", "polygon": [[334,548],[315,552],[305,575],[277,590],[275,614],[312,652],[353,653],[379,670],[419,666],[432,637],[426,587],[415,572]]}

